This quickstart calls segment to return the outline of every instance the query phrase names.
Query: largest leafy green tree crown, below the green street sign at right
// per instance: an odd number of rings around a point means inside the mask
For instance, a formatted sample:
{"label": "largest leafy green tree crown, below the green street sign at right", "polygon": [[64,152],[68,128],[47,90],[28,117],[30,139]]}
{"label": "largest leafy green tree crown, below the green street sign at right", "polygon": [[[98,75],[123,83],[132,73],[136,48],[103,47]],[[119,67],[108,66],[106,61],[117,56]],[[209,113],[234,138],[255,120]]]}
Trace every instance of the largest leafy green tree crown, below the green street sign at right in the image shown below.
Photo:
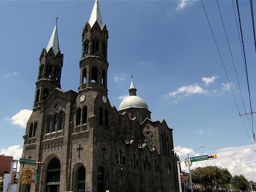
{"label": "largest leafy green tree crown, below the green street sign at right", "polygon": [[231,174],[226,168],[217,166],[198,167],[191,171],[192,182],[201,184],[205,189],[212,189],[216,186],[226,188],[231,182]]}

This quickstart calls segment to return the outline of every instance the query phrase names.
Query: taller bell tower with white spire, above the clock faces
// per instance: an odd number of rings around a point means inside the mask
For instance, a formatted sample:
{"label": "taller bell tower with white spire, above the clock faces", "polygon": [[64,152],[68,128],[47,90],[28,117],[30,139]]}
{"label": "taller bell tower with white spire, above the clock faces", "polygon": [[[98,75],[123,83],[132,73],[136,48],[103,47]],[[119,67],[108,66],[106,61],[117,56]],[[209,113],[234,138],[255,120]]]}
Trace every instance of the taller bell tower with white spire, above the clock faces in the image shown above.
{"label": "taller bell tower with white spire, above the clock faces", "polygon": [[102,24],[96,0],[89,22],[82,29],[79,92],[94,90],[101,91],[103,94],[108,93],[108,38],[108,30],[106,25]]}

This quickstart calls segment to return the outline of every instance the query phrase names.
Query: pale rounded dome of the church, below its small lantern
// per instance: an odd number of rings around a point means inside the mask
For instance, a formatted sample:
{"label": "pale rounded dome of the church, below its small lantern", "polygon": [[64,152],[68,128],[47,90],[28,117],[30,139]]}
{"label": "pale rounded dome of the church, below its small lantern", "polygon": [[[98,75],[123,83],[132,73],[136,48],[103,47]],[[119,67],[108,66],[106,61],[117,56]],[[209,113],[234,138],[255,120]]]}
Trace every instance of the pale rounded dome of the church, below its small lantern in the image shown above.
{"label": "pale rounded dome of the church, below its small lantern", "polygon": [[144,108],[148,110],[146,102],[136,95],[132,95],[123,99],[123,101],[119,105],[119,111],[127,108]]}

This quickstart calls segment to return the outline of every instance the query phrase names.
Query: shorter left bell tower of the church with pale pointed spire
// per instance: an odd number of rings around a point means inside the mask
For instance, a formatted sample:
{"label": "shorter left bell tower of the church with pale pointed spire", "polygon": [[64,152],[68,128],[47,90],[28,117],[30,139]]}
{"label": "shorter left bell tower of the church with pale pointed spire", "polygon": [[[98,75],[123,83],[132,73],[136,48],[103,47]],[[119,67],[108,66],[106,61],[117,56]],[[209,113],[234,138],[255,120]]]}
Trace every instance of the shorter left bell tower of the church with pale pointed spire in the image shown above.
{"label": "shorter left bell tower of the church with pale pointed spire", "polygon": [[35,83],[34,108],[38,106],[40,101],[46,100],[55,88],[61,88],[60,76],[63,66],[63,54],[59,50],[57,19],[48,46],[46,49],[42,49],[39,61],[38,76]]}

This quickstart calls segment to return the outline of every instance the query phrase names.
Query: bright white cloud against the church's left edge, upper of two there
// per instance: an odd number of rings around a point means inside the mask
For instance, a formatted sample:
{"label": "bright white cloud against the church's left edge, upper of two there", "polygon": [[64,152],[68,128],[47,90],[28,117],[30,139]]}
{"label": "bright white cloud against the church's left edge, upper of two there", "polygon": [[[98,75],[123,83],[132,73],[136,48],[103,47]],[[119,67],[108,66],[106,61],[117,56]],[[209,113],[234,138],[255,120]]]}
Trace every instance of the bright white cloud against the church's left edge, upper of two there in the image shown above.
{"label": "bright white cloud against the church's left edge, upper of two there", "polygon": [[10,120],[12,124],[18,125],[21,127],[26,128],[28,119],[31,115],[31,110],[20,110],[17,114],[13,115],[11,118],[5,118],[7,120]]}

